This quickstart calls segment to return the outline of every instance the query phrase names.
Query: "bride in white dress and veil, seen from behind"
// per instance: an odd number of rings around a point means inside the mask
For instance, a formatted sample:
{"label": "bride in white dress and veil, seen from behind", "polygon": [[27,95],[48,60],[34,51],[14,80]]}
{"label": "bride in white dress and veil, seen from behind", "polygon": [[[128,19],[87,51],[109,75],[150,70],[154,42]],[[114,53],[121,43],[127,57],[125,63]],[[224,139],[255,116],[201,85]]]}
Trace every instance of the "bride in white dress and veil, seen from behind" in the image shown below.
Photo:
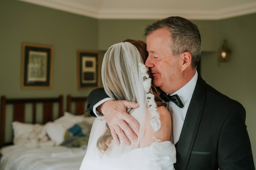
{"label": "bride in white dress and veil, seen from behind", "polygon": [[138,139],[116,145],[106,120],[96,119],[80,170],[174,170],[171,116],[160,90],[151,85],[146,57],[142,41],[125,40],[108,48],[102,63],[104,90],[112,99],[139,103],[128,110],[140,123]]}

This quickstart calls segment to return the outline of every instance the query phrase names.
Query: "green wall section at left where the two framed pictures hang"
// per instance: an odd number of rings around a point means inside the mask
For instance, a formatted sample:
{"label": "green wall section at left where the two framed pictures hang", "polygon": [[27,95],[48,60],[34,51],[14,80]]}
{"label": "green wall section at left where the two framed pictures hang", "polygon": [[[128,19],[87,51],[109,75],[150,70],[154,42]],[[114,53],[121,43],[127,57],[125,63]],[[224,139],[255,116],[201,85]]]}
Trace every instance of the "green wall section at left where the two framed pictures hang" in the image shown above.
{"label": "green wall section at left where the two framed pictures hang", "polygon": [[[53,46],[51,89],[21,89],[23,42]],[[92,89],[77,89],[78,49],[98,50],[98,20],[17,0],[1,0],[0,95],[88,95]]]}

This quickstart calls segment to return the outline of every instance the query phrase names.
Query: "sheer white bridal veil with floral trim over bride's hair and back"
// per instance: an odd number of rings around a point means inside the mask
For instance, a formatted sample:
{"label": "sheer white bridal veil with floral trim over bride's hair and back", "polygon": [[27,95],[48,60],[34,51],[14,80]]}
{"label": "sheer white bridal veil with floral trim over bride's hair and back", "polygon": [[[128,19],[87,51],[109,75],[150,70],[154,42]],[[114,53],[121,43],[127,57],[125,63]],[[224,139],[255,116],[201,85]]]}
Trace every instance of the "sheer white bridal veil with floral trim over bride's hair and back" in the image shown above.
{"label": "sheer white bridal veil with floral trim over bride's hair and back", "polygon": [[[104,167],[104,170],[106,170],[108,165],[109,169],[112,170],[114,169],[111,168],[113,164],[116,167],[121,166],[123,169],[129,169],[130,166],[143,169],[143,167],[138,167],[139,165],[134,165],[142,163],[142,160],[136,159],[137,156],[134,156],[134,160],[131,156],[128,160],[122,161],[122,159],[127,159],[125,156],[135,151],[143,152],[143,150],[138,151],[138,148],[149,147],[153,143],[160,142],[159,139],[154,137],[154,132],[160,129],[161,122],[157,113],[157,105],[154,102],[154,95],[151,91],[151,78],[148,77],[147,71],[148,68],[145,67],[140,52],[130,42],[120,42],[108,48],[102,63],[102,83],[106,94],[112,99],[139,103],[139,108],[128,110],[128,113],[140,123],[140,130],[137,132],[138,139],[136,142],[131,139],[130,145],[121,141],[119,146],[112,140],[105,154],[101,154],[96,147],[96,143],[105,132],[106,121],[105,119],[96,119],[91,129],[87,153],[84,157],[86,163],[83,162],[80,170],[96,170],[97,166],[98,168]],[[152,147],[155,146],[152,145]],[[152,154],[153,152],[145,151],[142,155],[145,155],[145,153]],[[172,153],[172,156],[175,157],[173,154],[175,153]],[[145,156],[145,159],[148,159],[147,156]],[[128,163],[125,164],[125,162]]]}

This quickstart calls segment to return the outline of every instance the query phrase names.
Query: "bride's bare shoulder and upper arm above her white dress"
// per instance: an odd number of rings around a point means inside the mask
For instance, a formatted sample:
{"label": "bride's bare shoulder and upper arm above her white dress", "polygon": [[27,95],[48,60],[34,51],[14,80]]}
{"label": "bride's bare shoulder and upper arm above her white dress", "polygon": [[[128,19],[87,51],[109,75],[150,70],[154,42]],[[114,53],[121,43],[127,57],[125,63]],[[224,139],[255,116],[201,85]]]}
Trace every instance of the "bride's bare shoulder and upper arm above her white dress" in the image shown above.
{"label": "bride's bare shoulder and upper arm above her white dress", "polygon": [[160,116],[161,128],[154,133],[154,136],[157,139],[160,139],[161,142],[170,141],[171,132],[172,132],[171,115],[169,111],[163,106],[158,107],[157,111]]}

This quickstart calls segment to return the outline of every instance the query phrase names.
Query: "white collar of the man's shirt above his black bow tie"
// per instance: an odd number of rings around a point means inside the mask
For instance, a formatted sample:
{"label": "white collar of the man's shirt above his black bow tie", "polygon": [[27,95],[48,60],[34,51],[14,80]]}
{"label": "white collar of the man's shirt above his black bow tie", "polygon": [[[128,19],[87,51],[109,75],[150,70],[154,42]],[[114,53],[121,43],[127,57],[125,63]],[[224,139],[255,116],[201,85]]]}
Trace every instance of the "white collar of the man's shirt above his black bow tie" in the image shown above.
{"label": "white collar of the man's shirt above his black bow tie", "polygon": [[198,72],[195,72],[194,77],[182,88],[180,88],[178,91],[176,91],[174,94],[177,94],[180,97],[181,102],[184,104],[189,97],[192,96],[194,90],[195,90],[195,85],[198,79]]}

